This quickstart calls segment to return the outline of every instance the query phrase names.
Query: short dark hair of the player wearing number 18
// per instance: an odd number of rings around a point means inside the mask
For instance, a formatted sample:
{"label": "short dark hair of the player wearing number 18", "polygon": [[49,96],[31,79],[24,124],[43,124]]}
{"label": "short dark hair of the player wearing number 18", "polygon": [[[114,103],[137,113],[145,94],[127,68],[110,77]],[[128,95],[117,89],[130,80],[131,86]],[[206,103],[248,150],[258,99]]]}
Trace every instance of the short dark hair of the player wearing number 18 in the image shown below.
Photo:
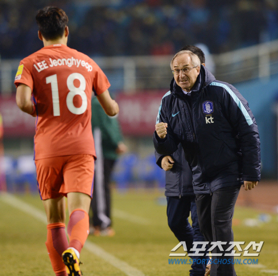
{"label": "short dark hair of the player wearing number 18", "polygon": [[45,7],[38,11],[36,21],[46,40],[56,40],[63,36],[68,18],[62,9]]}

